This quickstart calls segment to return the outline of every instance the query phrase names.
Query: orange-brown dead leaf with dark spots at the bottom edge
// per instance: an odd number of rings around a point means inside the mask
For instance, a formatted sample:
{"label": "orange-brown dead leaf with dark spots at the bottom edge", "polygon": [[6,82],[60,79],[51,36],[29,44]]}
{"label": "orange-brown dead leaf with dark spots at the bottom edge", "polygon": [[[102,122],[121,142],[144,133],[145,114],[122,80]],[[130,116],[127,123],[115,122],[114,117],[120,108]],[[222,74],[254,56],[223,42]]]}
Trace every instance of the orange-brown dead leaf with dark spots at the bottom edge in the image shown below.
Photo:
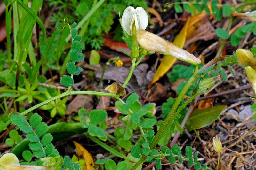
{"label": "orange-brown dead leaf with dark spots at the bottom edge", "polygon": [[80,143],[77,143],[76,141],[73,141],[73,143],[76,146],[79,160],[86,160],[84,170],[93,170],[94,162],[92,155]]}

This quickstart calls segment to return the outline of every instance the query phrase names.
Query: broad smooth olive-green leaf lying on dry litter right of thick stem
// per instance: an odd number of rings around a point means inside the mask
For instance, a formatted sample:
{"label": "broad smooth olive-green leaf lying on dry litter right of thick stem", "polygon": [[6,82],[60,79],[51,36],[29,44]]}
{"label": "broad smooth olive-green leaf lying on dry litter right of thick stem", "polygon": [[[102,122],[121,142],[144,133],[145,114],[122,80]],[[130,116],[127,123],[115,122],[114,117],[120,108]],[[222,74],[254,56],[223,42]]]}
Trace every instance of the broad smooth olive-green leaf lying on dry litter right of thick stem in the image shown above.
{"label": "broad smooth olive-green leaf lying on dry litter right of thick stem", "polygon": [[189,117],[190,124],[186,125],[186,129],[191,131],[193,128],[203,128],[211,125],[225,108],[227,108],[226,105],[217,105],[207,109],[194,109]]}

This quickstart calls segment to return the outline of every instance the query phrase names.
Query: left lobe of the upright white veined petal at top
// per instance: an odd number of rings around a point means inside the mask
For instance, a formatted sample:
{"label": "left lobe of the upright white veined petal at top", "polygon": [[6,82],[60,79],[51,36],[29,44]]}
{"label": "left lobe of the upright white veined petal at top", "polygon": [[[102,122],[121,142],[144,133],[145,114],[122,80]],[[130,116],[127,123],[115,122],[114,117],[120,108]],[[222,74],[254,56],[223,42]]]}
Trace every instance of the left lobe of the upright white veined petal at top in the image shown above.
{"label": "left lobe of the upright white veined petal at top", "polygon": [[124,31],[131,35],[130,25],[132,23],[132,18],[134,16],[135,9],[132,6],[128,6],[125,8],[123,16],[122,16],[122,27],[124,28]]}

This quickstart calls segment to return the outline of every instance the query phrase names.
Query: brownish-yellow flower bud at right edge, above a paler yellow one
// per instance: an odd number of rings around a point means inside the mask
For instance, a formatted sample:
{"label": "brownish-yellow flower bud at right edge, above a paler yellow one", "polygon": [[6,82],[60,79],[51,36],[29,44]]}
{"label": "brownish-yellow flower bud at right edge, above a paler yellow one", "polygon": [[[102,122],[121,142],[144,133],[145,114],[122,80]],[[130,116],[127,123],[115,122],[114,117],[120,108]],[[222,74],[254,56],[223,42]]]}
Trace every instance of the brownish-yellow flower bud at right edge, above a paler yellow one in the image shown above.
{"label": "brownish-yellow flower bud at right edge, above a paler yellow one", "polygon": [[240,66],[251,66],[254,70],[256,70],[256,58],[253,57],[251,51],[244,49],[236,50],[237,61]]}

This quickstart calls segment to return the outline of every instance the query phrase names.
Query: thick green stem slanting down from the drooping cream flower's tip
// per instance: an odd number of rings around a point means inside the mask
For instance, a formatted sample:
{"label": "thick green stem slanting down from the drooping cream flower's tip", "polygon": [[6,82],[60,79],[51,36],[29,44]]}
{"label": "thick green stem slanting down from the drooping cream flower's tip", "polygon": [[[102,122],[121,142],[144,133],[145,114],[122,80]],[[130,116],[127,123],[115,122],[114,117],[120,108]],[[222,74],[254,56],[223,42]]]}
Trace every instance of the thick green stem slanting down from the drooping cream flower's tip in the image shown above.
{"label": "thick green stem slanting down from the drooping cream flower's tip", "polygon": [[[197,70],[197,68],[198,67],[196,67],[196,70]],[[165,118],[163,125],[157,131],[156,136],[154,137],[152,143],[150,143],[150,145],[149,145],[150,149],[154,149],[155,148],[156,144],[160,141],[162,134],[165,134],[166,131],[172,126],[172,123],[173,123],[174,119],[176,118],[176,116],[178,114],[178,112],[175,113],[175,111],[178,108],[181,100],[183,99],[183,97],[187,93],[188,89],[192,85],[192,83],[196,80],[196,77],[195,77],[196,73],[197,72],[195,71],[194,75],[188,80],[188,82],[186,83],[184,88],[181,90],[179,96],[177,97],[177,99],[175,100],[174,104],[172,105],[172,109],[170,110],[170,112],[168,113],[167,117]],[[186,104],[186,103],[184,103],[184,104]],[[181,110],[181,109],[182,108],[180,108],[179,110]],[[143,163],[146,160],[146,158],[147,158],[147,155],[142,155],[140,160],[134,166],[132,166],[132,168],[130,170],[135,170],[141,163]]]}

